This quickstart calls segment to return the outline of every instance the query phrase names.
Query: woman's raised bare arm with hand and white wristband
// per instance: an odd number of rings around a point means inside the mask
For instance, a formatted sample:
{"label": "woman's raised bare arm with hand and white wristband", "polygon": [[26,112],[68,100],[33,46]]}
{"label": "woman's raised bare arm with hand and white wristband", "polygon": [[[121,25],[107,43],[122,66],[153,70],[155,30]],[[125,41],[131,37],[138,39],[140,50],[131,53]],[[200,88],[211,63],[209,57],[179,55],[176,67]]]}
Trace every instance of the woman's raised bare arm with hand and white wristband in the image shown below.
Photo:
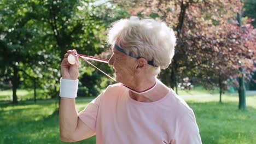
{"label": "woman's raised bare arm with hand and white wristband", "polygon": [[[60,139],[66,142],[73,142],[86,139],[95,134],[87,125],[85,125],[78,117],[78,112],[75,107],[75,97],[77,94],[78,85],[78,56],[75,50],[68,50],[64,55],[61,63],[61,87],[60,87]],[[69,64],[67,61],[68,55],[75,56],[75,64]]]}

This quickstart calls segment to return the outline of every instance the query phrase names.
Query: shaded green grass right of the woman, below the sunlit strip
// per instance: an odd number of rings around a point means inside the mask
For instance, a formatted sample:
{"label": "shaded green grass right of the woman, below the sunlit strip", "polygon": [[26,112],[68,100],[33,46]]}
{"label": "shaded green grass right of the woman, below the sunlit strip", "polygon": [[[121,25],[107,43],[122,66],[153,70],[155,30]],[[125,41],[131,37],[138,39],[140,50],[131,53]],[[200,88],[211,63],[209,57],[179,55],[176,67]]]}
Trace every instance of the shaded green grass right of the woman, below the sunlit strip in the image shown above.
{"label": "shaded green grass right of the woman, below the sunlit strip", "polygon": [[202,143],[253,143],[256,110],[238,110],[237,103],[189,103],[199,125]]}

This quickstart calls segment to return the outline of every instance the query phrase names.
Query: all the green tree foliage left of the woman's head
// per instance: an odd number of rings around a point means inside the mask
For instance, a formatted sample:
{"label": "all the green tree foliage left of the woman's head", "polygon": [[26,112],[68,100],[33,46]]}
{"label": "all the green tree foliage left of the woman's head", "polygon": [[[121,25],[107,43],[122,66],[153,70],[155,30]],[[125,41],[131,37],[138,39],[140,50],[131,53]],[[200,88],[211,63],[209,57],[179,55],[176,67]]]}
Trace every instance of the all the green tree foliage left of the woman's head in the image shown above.
{"label": "all the green tree foliage left of the woman's head", "polygon": [[[107,27],[128,15],[118,5],[94,0],[4,0],[0,11],[1,86],[8,88],[11,81],[15,93],[19,87],[32,89],[36,79],[36,87],[51,97],[58,95],[64,53],[77,49],[85,55],[100,54],[108,47]],[[113,72],[107,65],[100,67]],[[81,85],[89,89],[90,95],[97,95],[108,85],[95,69],[80,69],[80,77],[86,77],[83,73],[91,73],[94,78],[83,79]]]}

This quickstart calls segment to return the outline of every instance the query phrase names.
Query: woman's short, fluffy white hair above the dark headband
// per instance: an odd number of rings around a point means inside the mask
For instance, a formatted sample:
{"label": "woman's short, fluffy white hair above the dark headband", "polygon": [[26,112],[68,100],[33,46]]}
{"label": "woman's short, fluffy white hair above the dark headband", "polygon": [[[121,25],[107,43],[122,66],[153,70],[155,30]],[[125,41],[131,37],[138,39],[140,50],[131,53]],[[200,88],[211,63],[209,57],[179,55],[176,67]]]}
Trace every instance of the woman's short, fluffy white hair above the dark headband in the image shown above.
{"label": "woman's short, fluffy white hair above the dark headband", "polygon": [[176,37],[173,29],[165,22],[139,20],[137,16],[132,16],[113,23],[107,42],[113,46],[119,45],[126,53],[146,58],[161,69],[166,69],[174,56]]}

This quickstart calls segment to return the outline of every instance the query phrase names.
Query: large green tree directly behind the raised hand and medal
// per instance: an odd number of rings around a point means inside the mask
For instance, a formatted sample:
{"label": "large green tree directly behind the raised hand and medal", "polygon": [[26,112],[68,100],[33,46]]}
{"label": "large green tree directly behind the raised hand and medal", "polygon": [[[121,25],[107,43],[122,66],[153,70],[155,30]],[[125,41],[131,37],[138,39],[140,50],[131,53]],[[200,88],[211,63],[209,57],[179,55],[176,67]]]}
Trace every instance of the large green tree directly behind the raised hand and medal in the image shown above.
{"label": "large green tree directly behind the raised hand and medal", "polygon": [[[41,2],[43,13],[39,17],[46,23],[48,31],[51,30],[49,34],[55,41],[55,55],[62,59],[68,49],[76,49],[79,53],[92,56],[105,51],[106,28],[110,22],[127,14],[123,9],[109,7],[108,4],[96,1]],[[103,65],[101,68],[111,71]],[[101,85],[103,75],[94,69],[81,69],[80,74],[82,86],[88,88],[89,93],[98,93],[97,85]],[[92,76],[95,79],[89,79]]]}

